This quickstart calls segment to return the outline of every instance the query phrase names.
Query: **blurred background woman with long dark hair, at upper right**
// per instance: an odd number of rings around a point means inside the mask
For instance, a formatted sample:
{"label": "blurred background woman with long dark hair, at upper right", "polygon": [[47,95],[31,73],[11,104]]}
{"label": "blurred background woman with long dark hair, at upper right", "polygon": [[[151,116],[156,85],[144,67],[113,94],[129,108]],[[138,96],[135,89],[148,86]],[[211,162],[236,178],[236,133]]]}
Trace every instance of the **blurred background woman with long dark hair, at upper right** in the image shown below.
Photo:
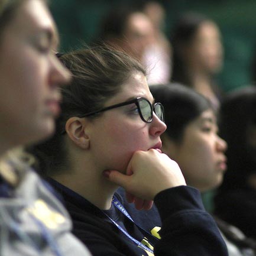
{"label": "blurred background woman with long dark hair, at upper right", "polygon": [[221,90],[214,77],[221,70],[223,59],[218,26],[200,14],[186,13],[174,26],[171,44],[172,80],[202,93],[218,108]]}

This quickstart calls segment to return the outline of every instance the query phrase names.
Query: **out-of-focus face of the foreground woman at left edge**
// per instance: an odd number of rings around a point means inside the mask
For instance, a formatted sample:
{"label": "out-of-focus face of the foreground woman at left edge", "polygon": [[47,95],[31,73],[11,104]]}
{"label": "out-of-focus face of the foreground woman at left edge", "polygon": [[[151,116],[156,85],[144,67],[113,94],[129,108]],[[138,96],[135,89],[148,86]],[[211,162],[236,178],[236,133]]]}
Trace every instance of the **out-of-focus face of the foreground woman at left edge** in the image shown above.
{"label": "out-of-focus face of the foreground woman at left edge", "polygon": [[54,131],[57,86],[69,79],[54,56],[56,47],[56,27],[44,2],[22,2],[0,41],[0,134],[15,145]]}

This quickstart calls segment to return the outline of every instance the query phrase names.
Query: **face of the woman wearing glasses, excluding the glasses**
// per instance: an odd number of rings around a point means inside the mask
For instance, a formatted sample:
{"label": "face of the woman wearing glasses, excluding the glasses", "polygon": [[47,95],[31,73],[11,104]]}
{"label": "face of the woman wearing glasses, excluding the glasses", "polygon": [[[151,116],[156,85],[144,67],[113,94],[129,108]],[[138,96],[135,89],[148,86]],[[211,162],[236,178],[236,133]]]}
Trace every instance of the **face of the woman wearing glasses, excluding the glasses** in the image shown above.
{"label": "face of the woman wearing glasses, excluding the glasses", "polygon": [[[154,102],[145,76],[131,74],[122,89],[105,106],[130,101],[138,97]],[[103,112],[90,122],[90,151],[99,170],[118,170],[124,173],[135,151],[161,148],[160,135],[166,124],[153,115],[153,121],[142,121],[135,103]]]}

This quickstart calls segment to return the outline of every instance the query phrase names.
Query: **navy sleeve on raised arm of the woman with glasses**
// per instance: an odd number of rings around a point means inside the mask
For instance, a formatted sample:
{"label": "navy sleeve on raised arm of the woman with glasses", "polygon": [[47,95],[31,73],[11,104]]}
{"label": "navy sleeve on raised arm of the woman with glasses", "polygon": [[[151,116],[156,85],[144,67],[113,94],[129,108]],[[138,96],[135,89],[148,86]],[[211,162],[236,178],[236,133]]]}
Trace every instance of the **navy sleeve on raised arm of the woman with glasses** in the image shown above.
{"label": "navy sleeve on raised arm of the woman with glasses", "polygon": [[212,216],[203,207],[198,190],[179,186],[155,196],[163,222],[155,256],[228,256],[226,244]]}

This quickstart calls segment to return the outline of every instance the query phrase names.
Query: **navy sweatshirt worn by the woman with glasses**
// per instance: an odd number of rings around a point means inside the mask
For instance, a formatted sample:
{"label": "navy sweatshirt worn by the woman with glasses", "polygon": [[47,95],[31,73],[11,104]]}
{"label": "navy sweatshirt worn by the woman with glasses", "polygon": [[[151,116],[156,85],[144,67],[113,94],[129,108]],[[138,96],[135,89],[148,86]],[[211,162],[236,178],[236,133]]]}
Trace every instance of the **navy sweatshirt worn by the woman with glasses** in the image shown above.
{"label": "navy sweatshirt worn by the woman with glasses", "polygon": [[[73,219],[74,234],[88,246],[93,256],[151,255],[137,247],[100,209],[86,199],[57,182],[51,181],[51,184],[63,196]],[[132,212],[134,206],[123,199],[124,192],[118,192],[116,196],[135,222],[140,222],[143,228],[149,229],[148,231],[161,225],[158,213],[154,215],[157,211],[155,207],[151,214],[142,211],[141,215],[138,215]],[[163,225],[160,231],[161,239],[152,242],[154,255],[228,255],[225,242],[212,217],[205,212],[200,193],[196,189],[181,186],[164,190],[156,196],[155,205],[160,210]],[[115,209],[110,211],[114,211],[115,220],[123,222],[130,235],[139,240],[144,237],[137,226],[124,219],[122,213],[115,212]]]}

